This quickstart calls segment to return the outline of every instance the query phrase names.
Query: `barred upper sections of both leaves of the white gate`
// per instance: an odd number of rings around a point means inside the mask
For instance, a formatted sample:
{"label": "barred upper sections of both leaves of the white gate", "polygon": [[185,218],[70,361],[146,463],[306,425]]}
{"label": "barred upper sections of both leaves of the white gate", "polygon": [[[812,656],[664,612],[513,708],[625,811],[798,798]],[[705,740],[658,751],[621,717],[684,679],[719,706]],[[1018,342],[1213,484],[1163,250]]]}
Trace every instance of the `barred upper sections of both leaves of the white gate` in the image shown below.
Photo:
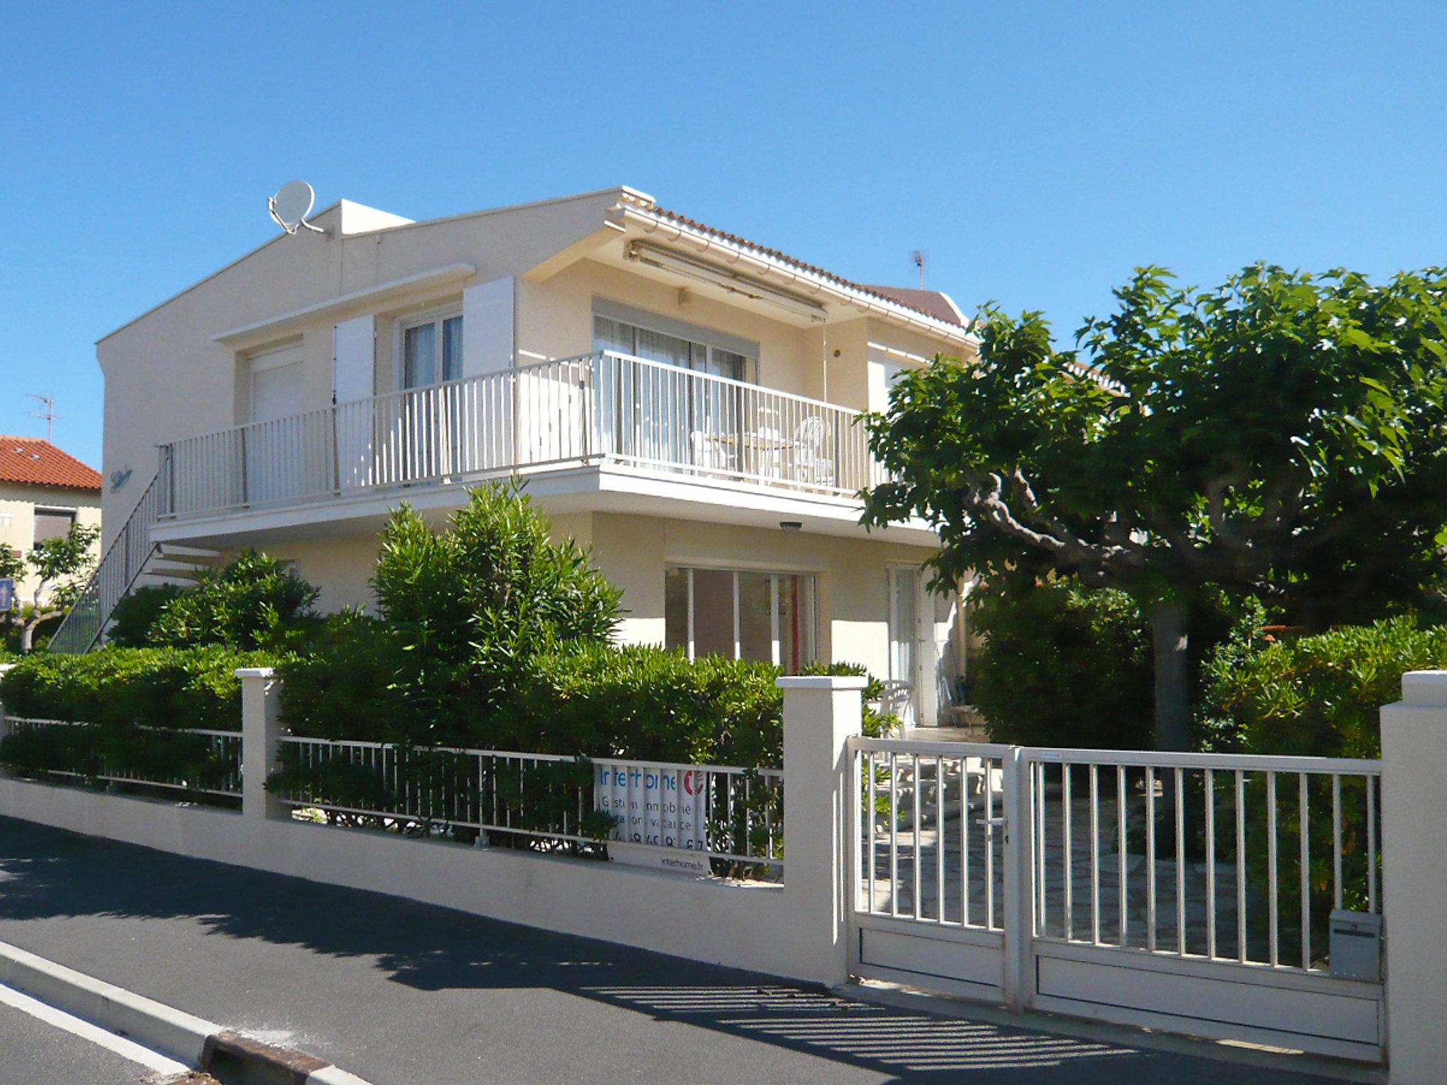
{"label": "barred upper sections of both leaves of the white gate", "polygon": [[[860,916],[1001,930],[1016,894],[1040,942],[1317,974],[1333,911],[1382,911],[1379,761],[851,748]],[[1020,810],[1007,884],[1003,829]]]}

